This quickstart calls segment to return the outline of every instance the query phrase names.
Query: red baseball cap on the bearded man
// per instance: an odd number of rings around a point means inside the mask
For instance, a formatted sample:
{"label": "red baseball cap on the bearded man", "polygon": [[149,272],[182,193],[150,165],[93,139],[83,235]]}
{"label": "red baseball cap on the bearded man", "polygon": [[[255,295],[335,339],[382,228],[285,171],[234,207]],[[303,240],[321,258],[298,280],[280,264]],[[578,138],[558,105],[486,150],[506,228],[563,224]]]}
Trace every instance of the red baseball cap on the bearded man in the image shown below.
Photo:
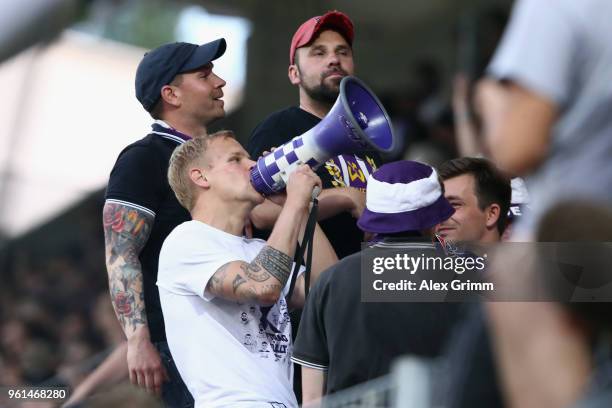
{"label": "red baseball cap on the bearded man", "polygon": [[297,29],[291,39],[291,48],[289,49],[289,64],[293,64],[295,50],[309,44],[321,31],[331,29],[339,32],[349,43],[353,45],[355,32],[353,30],[353,22],[344,13],[334,10],[328,11],[322,16],[316,16],[306,20],[304,24]]}

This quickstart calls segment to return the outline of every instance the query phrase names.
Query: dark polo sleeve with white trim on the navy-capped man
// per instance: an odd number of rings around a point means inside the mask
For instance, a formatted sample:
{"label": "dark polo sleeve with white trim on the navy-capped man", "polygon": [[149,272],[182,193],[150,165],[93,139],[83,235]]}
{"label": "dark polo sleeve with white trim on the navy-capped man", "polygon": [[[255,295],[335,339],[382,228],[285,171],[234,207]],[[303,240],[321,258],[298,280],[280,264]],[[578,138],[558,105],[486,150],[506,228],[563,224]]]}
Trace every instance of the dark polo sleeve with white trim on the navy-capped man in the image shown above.
{"label": "dark polo sleeve with white trim on the navy-capped man", "polygon": [[121,152],[111,171],[106,199],[144,207],[155,215],[165,198],[164,173],[154,149],[130,146]]}

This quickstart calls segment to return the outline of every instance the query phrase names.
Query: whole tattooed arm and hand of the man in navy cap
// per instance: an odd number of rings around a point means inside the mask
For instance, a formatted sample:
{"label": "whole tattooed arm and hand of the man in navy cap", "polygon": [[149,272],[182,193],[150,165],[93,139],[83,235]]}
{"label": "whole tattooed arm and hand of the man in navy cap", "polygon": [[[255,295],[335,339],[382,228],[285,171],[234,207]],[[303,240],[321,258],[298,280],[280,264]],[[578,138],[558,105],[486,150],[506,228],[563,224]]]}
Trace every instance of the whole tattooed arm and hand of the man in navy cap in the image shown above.
{"label": "whole tattooed arm and hand of the man in navy cap", "polygon": [[138,259],[149,239],[154,217],[133,207],[107,202],[103,219],[108,285],[115,313],[128,339],[130,381],[160,394],[166,373],[149,336]]}

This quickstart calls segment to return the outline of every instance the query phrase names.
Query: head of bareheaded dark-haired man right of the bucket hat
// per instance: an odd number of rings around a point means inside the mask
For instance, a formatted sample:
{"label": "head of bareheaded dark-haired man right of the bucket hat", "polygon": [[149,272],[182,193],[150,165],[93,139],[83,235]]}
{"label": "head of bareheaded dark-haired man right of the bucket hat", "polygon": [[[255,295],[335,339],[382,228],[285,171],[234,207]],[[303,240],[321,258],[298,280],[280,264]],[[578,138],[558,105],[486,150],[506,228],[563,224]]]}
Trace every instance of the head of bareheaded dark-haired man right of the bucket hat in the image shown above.
{"label": "head of bareheaded dark-haired man right of the bucket hat", "polygon": [[474,157],[449,160],[438,170],[455,213],[436,233],[453,242],[498,242],[507,224],[510,180],[490,161]]}

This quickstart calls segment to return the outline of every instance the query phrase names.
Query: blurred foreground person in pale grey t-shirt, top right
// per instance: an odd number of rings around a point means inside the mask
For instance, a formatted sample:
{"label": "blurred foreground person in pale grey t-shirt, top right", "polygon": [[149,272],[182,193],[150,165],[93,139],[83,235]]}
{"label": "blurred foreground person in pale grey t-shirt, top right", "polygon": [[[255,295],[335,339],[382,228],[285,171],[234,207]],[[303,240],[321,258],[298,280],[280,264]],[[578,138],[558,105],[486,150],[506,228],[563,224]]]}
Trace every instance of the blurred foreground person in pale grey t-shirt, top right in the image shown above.
{"label": "blurred foreground person in pale grey t-shirt, top right", "polygon": [[[532,235],[557,201],[612,201],[612,3],[519,0],[479,85],[485,137],[497,164],[526,180]],[[585,182],[587,181],[588,182]]]}

